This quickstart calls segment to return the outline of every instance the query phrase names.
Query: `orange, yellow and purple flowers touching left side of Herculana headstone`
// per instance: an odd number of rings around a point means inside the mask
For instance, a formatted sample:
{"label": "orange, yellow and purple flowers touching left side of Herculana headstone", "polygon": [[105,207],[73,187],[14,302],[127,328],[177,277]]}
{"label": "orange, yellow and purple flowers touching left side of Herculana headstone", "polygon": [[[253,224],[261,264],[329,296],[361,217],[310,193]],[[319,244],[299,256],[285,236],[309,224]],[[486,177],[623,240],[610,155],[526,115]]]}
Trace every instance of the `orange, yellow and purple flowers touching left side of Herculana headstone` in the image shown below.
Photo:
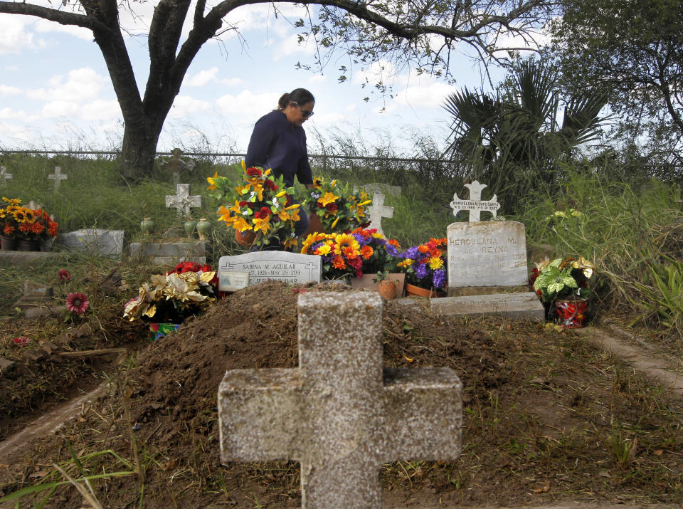
{"label": "orange, yellow and purple flowers touching left side of Herculana headstone", "polygon": [[430,238],[428,242],[406,249],[398,270],[406,273],[406,281],[427,290],[445,290],[446,238]]}

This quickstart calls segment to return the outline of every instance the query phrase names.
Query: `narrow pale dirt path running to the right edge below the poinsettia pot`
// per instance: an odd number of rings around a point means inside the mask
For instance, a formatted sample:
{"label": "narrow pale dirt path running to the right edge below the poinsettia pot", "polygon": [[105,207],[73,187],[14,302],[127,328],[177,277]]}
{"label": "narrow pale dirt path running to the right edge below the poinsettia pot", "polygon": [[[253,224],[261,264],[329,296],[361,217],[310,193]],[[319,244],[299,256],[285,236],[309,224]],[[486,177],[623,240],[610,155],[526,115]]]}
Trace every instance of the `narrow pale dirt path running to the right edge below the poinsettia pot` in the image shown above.
{"label": "narrow pale dirt path running to the right edge below the poinsettia pot", "polygon": [[[683,397],[683,375],[676,372],[683,372],[681,362],[673,359],[664,360],[652,355],[653,350],[649,351],[642,346],[630,345],[620,337],[616,330],[610,332],[599,327],[585,327],[574,329],[573,332],[591,340],[605,352],[613,353],[638,371],[659,380],[674,394]],[[637,340],[640,345],[647,345],[644,340],[633,339]]]}

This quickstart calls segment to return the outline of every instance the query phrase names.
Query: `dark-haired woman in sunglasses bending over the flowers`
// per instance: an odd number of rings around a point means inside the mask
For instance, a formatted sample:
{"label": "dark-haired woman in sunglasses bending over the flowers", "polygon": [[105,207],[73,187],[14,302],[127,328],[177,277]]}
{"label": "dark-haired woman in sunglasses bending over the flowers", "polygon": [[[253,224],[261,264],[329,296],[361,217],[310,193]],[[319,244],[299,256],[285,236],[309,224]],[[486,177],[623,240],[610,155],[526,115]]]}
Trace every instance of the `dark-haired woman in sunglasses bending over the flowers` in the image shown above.
{"label": "dark-haired woman in sunglasses bending over the flowers", "polygon": [[[313,187],[313,176],[308,163],[306,132],[303,123],[313,115],[315,99],[305,88],[296,88],[282,95],[277,110],[260,117],[249,141],[245,163],[247,167],[271,168],[275,177],[282,177],[287,187],[294,185],[294,177],[307,188]],[[299,210],[300,220],[295,233],[302,236],[308,229],[308,216]]]}

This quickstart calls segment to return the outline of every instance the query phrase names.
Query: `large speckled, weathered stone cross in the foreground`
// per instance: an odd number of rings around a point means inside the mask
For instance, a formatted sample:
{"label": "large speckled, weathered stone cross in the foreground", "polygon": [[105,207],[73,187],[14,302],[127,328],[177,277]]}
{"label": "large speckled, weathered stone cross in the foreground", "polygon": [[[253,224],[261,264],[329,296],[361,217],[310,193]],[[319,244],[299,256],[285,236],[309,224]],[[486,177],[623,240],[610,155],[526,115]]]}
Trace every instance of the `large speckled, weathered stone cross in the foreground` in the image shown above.
{"label": "large speckled, weathered stone cross in the foreground", "polygon": [[299,367],[233,369],[218,387],[221,463],[301,463],[303,508],[380,508],[383,463],[460,456],[462,384],[382,369],[377,293],[299,295]]}

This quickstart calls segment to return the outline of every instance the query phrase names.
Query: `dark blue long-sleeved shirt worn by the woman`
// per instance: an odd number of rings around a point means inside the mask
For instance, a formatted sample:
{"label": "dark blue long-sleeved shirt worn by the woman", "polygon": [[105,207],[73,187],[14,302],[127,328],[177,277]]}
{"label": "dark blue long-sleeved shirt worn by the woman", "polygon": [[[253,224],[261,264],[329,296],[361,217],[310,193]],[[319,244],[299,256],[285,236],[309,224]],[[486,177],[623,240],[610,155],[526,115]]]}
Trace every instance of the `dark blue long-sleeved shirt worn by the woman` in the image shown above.
{"label": "dark blue long-sleeved shirt worn by the woman", "polygon": [[301,184],[313,183],[306,132],[287,120],[287,115],[280,110],[271,111],[256,122],[245,164],[248,168],[272,168],[272,174],[282,175],[288,187],[294,185],[295,175]]}

